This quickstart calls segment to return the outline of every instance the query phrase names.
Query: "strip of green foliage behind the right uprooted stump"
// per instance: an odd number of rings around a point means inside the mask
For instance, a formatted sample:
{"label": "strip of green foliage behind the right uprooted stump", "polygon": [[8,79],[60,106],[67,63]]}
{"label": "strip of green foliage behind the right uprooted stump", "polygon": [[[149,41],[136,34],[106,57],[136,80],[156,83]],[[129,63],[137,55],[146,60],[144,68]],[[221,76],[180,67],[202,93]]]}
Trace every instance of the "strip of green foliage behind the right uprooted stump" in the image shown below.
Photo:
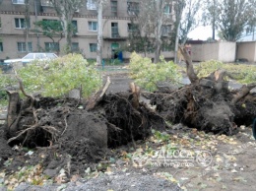
{"label": "strip of green foliage behind the right uprooted stump", "polygon": [[196,67],[200,78],[207,77],[218,69],[224,69],[232,79],[241,84],[250,84],[256,81],[256,67],[254,65],[224,64],[220,61],[210,60]]}

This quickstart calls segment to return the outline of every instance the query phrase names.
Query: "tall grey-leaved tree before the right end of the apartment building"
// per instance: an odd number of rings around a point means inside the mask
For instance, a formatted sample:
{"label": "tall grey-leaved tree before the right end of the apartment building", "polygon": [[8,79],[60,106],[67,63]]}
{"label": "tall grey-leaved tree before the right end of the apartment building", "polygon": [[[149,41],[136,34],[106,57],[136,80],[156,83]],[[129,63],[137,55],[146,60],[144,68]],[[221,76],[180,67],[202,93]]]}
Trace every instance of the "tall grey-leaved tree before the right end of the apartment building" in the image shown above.
{"label": "tall grey-leaved tree before the right end of the apartment building", "polygon": [[[139,11],[134,14],[136,23],[139,25],[141,35],[139,40],[131,41],[137,42],[137,49],[148,52],[149,45],[153,44],[155,53],[154,62],[160,60],[160,50],[162,47],[162,28],[168,22],[171,23],[171,15],[166,14],[166,7],[171,6],[173,0],[141,0]],[[171,9],[171,7],[170,7]],[[130,44],[131,45],[131,44]],[[133,46],[133,45],[132,45]],[[132,47],[130,46],[130,48]]]}

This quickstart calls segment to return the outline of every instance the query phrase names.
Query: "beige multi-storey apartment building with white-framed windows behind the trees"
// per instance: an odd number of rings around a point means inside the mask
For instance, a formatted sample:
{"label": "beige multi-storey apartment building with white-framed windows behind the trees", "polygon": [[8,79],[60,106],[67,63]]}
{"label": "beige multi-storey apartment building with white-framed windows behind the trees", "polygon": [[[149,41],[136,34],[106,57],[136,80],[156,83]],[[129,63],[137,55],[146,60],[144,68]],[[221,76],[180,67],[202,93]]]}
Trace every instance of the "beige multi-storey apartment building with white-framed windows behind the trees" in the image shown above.
{"label": "beige multi-storey apartment building with white-framed windows behind the trees", "polygon": [[[2,0],[0,4],[0,61],[7,58],[20,58],[30,52],[61,52],[65,39],[51,38],[36,32],[34,22],[41,20],[59,20],[48,0]],[[26,11],[27,10],[27,11]],[[29,10],[29,11],[28,11]],[[26,32],[25,15],[29,12],[30,30]],[[108,0],[103,8],[103,47],[102,57],[111,58],[113,51],[122,49],[128,42],[131,31],[131,19],[139,12],[139,0]],[[164,12],[170,14],[171,7]],[[85,58],[96,58],[96,0],[87,0],[76,10],[72,24],[76,32],[72,37],[72,48],[81,52]],[[163,27],[163,34],[170,31],[171,25]],[[28,43],[26,43],[26,40]],[[26,47],[28,44],[29,48]],[[130,53],[123,51],[123,58]],[[163,51],[165,57],[173,54]],[[153,55],[148,55],[153,56]]]}

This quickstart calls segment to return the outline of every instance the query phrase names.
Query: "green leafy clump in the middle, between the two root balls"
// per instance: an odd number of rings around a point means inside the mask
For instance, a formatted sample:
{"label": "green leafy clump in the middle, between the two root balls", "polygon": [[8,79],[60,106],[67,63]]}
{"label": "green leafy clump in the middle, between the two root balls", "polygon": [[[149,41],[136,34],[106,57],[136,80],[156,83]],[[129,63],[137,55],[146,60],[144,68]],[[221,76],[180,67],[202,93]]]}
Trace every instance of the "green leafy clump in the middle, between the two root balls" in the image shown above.
{"label": "green leafy clump in the middle, between the two root balls", "polygon": [[172,61],[166,62],[163,57],[160,57],[159,63],[154,64],[151,58],[142,57],[134,52],[129,68],[135,83],[150,92],[156,91],[160,82],[177,84],[181,78],[177,65]]}

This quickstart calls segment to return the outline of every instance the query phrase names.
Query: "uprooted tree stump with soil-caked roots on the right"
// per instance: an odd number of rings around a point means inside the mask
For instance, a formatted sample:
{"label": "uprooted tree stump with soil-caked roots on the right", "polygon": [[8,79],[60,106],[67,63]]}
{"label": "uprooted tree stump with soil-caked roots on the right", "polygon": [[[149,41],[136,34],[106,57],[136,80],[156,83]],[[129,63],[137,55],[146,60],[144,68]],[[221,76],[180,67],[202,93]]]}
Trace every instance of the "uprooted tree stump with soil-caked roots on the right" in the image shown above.
{"label": "uprooted tree stump with soil-caked roots on the right", "polygon": [[151,96],[160,115],[172,123],[182,122],[189,127],[226,135],[237,132],[238,125],[250,125],[256,116],[256,98],[250,91],[256,84],[231,91],[225,77],[233,79],[235,75],[221,68],[200,79],[186,49],[181,46],[179,49],[191,84]]}

